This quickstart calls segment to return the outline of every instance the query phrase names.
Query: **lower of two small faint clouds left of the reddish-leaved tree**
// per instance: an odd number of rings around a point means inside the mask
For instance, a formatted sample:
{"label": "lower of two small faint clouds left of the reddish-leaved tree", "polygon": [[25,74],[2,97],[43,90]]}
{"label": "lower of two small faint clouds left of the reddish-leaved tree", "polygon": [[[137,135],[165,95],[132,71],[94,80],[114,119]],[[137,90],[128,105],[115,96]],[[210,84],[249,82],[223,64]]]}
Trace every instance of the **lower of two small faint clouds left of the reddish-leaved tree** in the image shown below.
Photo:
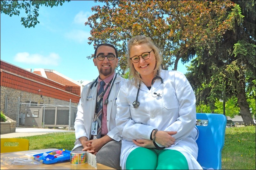
{"label": "lower of two small faint clouds left of the reddish-leaved tree", "polygon": [[84,41],[87,41],[88,37],[90,37],[90,33],[83,30],[72,30],[69,33],[66,33],[65,36],[71,40],[83,43]]}

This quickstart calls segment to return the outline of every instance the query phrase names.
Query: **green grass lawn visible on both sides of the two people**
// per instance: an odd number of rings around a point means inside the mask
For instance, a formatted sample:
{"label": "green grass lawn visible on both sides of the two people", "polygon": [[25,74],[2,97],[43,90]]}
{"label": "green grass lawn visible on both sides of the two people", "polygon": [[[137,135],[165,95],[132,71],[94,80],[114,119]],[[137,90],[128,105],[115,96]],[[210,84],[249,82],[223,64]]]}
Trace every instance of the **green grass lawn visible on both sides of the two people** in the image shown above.
{"label": "green grass lawn visible on both sides of the two people", "polygon": [[[71,151],[76,137],[74,132],[60,132],[21,138],[29,140],[29,150],[56,148]],[[255,169],[255,152],[255,126],[227,128],[222,169]]]}

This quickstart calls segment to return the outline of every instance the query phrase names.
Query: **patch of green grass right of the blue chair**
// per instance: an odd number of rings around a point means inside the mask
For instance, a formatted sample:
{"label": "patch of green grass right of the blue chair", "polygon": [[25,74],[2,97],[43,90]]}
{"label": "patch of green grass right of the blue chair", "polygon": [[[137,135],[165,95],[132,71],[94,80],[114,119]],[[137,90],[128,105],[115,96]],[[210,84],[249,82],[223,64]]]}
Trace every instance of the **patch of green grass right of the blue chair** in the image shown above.
{"label": "patch of green grass right of the blue chair", "polygon": [[255,169],[255,126],[227,128],[222,169]]}

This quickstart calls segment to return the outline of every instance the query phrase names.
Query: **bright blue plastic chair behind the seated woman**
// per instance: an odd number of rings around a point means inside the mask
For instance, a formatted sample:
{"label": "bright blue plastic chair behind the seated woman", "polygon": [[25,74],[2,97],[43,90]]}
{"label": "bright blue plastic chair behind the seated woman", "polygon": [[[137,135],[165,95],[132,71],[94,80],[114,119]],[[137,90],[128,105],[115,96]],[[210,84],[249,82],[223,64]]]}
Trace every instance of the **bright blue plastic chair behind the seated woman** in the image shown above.
{"label": "bright blue plastic chair behind the seated woman", "polygon": [[196,113],[196,119],[208,120],[207,126],[196,126],[199,130],[197,161],[203,169],[221,169],[227,118],[222,114]]}

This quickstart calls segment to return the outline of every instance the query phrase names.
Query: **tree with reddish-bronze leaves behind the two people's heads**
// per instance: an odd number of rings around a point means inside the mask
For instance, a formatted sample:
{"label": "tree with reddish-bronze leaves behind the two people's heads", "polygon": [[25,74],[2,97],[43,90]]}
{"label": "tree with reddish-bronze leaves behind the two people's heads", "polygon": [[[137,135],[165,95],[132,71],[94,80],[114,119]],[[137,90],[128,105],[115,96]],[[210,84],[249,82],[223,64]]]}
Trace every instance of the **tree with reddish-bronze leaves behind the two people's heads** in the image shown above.
{"label": "tree with reddish-bronze leaves behind the two people's heads", "polygon": [[[92,7],[95,12],[85,22],[91,27],[89,44],[94,47],[102,42],[112,43],[120,56],[117,71],[124,73],[126,67],[127,41],[138,34],[143,34],[162,50],[163,69],[178,61],[190,61],[196,51],[206,47],[209,53],[215,50],[218,41],[230,23],[227,9],[230,1],[99,1],[102,7]],[[91,58],[87,56],[87,58]]]}

